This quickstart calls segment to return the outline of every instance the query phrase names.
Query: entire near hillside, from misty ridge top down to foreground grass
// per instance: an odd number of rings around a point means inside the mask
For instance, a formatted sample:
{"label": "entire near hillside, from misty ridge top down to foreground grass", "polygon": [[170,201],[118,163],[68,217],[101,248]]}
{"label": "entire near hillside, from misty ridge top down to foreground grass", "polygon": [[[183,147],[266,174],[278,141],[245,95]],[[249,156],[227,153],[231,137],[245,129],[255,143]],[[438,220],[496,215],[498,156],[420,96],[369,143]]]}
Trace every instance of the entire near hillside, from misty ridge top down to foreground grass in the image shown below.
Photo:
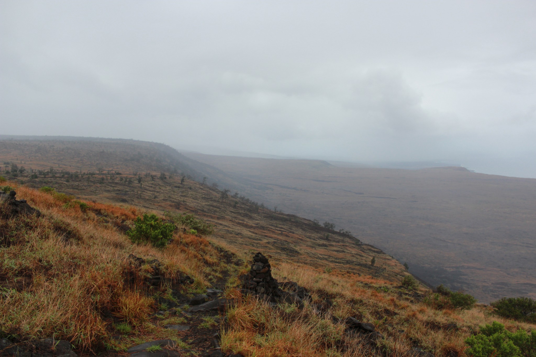
{"label": "entire near hillside, from misty ridge top down to foreground grass", "polygon": [[[484,323],[536,329],[485,306],[455,309],[411,279],[401,286],[410,275],[381,250],[174,173],[182,162],[165,171],[151,145],[127,146],[114,162],[117,145],[0,142],[9,162],[0,186],[40,210],[0,204],[0,355],[452,357],[466,355]],[[139,161],[121,159],[133,151]],[[201,236],[178,211],[214,234]],[[152,212],[178,226],[162,248],[125,234]],[[240,289],[258,250],[271,254],[291,300]],[[209,301],[192,306],[199,299]],[[162,346],[133,347],[154,340]]]}

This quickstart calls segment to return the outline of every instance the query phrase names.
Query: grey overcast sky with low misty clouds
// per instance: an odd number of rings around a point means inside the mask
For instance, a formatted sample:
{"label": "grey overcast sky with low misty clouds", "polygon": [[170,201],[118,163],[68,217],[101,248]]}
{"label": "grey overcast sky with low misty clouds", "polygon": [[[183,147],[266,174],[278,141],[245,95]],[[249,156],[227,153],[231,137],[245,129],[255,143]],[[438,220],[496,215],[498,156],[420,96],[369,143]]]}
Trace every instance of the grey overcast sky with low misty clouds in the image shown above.
{"label": "grey overcast sky with low misty clouds", "polygon": [[536,1],[2,0],[0,123],[536,177]]}

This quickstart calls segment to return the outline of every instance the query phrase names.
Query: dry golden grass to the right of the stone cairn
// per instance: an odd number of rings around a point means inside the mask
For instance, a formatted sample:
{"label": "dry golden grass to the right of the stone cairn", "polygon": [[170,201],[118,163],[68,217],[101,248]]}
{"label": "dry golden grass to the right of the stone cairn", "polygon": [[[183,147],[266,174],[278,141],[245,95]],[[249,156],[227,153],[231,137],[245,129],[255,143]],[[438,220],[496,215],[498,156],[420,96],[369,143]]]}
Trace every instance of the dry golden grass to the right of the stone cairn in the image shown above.
{"label": "dry golden grass to the right of the stone cairn", "polygon": [[[253,297],[239,299],[228,312],[224,348],[245,356],[407,356],[419,346],[435,356],[464,356],[465,339],[480,325],[499,321],[509,330],[536,329],[494,316],[483,307],[437,310],[403,294],[393,283],[370,277],[327,274],[292,263],[272,264],[272,269],[279,281],[306,287],[311,301],[297,310],[286,304],[271,308]],[[421,288],[421,293],[426,290]],[[326,298],[332,305],[319,310]],[[384,338],[368,342],[349,337],[344,333],[348,316],[373,323]]]}

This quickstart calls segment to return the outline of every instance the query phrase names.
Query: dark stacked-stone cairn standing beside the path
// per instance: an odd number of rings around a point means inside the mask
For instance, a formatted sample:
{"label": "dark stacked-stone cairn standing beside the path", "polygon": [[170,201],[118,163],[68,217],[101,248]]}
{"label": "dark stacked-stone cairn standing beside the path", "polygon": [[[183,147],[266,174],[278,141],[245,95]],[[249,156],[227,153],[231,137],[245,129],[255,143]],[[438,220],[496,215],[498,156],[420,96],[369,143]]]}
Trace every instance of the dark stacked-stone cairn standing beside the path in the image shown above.
{"label": "dark stacked-stone cairn standing beside the path", "polygon": [[253,257],[253,264],[245,278],[244,288],[261,294],[277,297],[281,295],[277,280],[272,277],[270,263],[260,252]]}

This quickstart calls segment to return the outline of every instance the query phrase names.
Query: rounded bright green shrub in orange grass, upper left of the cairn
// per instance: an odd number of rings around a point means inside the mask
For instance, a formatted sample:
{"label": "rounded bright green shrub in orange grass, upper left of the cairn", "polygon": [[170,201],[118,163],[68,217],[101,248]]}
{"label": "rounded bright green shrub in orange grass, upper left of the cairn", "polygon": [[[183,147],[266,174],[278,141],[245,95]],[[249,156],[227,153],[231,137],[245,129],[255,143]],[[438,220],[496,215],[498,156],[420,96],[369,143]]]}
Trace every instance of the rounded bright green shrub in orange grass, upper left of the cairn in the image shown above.
{"label": "rounded bright green shrub in orange grass, upper left of the cairn", "polygon": [[160,248],[168,244],[174,230],[175,225],[172,223],[162,222],[154,214],[144,214],[143,218],[136,218],[134,228],[126,234],[133,243],[151,243],[154,247]]}

